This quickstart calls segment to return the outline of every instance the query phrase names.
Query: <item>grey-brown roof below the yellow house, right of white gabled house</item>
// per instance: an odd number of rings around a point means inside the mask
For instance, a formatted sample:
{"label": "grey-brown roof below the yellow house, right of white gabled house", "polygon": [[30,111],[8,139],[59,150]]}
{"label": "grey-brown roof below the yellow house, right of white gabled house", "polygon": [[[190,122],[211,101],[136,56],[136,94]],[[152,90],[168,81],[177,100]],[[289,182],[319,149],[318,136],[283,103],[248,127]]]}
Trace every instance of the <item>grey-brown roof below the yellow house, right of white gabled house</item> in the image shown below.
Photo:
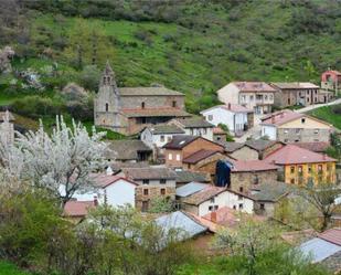
{"label": "grey-brown roof below the yellow house, right of white gabled house", "polygon": [[290,190],[291,190],[291,187],[285,182],[279,182],[279,181],[264,182],[264,183],[254,186],[249,195],[255,201],[276,202],[283,195],[289,193]]}

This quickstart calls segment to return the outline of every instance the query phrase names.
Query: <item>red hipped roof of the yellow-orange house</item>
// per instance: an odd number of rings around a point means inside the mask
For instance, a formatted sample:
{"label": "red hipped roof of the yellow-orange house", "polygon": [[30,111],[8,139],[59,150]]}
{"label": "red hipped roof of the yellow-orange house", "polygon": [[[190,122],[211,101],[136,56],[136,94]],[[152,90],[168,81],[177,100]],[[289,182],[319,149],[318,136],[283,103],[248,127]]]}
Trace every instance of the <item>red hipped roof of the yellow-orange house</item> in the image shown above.
{"label": "red hipped roof of the yellow-orange house", "polygon": [[327,155],[309,151],[295,145],[287,145],[280,148],[267,156],[264,160],[276,165],[299,165],[337,161]]}

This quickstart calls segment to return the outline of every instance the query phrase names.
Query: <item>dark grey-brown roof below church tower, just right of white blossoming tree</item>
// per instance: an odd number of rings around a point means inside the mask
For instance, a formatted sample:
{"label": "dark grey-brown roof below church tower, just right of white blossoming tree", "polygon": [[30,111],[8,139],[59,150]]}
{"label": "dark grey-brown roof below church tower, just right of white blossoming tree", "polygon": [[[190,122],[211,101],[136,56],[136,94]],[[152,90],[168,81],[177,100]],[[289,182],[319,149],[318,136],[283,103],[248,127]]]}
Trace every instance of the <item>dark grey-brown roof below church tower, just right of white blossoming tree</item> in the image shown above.
{"label": "dark grey-brown roof below church tower, just right of white blossoming tree", "polygon": [[[138,159],[138,152],[152,152],[152,150],[145,145],[141,140],[111,140],[108,141],[109,149],[113,152],[108,152],[108,158],[113,156],[116,160],[136,160]],[[113,155],[111,155],[113,154]]]}

